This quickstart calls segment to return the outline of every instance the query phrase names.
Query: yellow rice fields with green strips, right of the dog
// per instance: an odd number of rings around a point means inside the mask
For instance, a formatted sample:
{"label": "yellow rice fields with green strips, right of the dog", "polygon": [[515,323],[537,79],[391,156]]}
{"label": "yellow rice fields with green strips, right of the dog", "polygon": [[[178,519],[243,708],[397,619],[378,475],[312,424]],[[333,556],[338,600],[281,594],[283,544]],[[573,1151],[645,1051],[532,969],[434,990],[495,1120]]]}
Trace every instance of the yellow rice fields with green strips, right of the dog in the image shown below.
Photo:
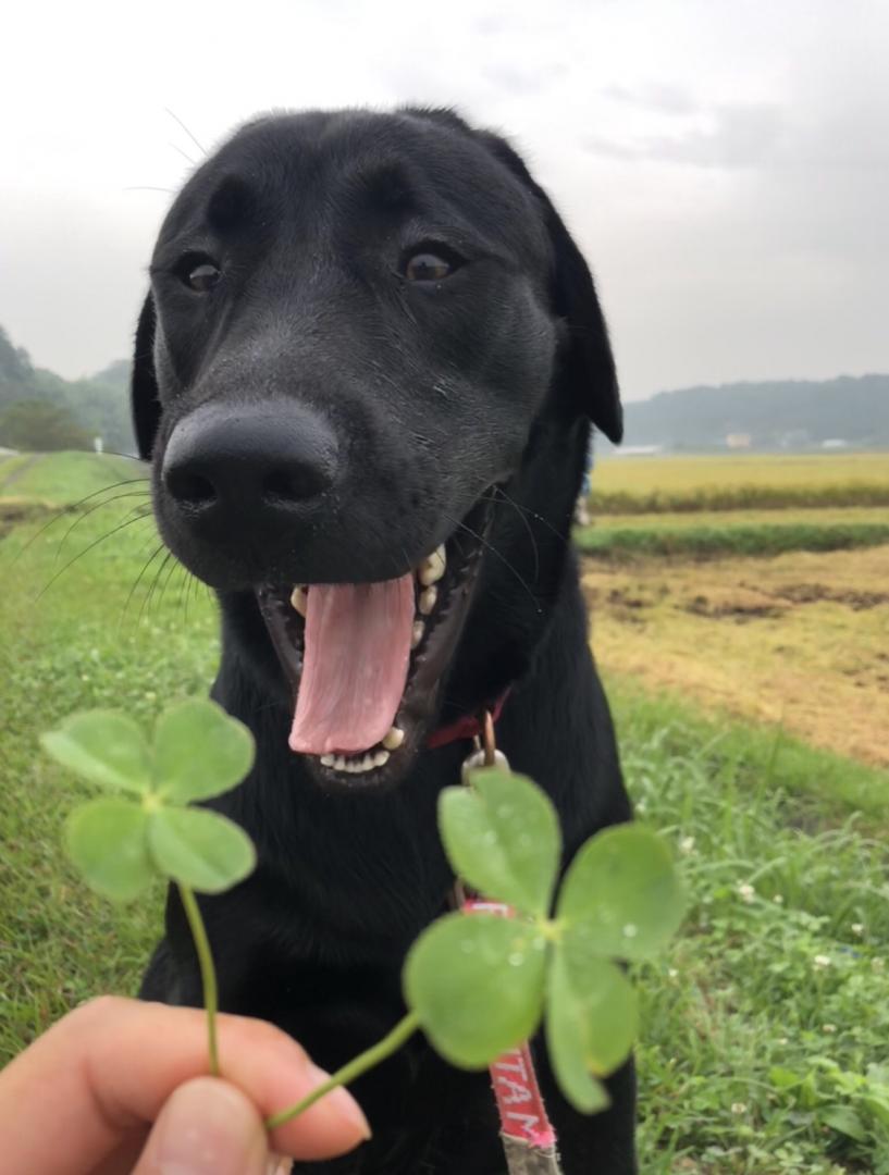
{"label": "yellow rice fields with green strips, right of the dog", "polygon": [[[576,535],[607,670],[889,766],[889,505],[845,504],[889,491],[889,455],[614,458],[594,478],[631,501]],[[649,510],[659,494],[687,505]],[[713,508],[729,494],[749,504]]]}

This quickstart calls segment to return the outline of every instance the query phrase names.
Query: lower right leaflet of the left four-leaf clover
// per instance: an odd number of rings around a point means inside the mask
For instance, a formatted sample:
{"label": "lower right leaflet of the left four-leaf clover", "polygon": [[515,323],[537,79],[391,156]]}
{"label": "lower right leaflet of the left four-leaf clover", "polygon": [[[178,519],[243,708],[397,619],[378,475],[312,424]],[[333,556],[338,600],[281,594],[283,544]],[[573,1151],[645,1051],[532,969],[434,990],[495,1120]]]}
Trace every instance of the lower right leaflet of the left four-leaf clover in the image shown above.
{"label": "lower right leaflet of the left four-leaf clover", "polygon": [[222,893],[256,865],[247,833],[218,812],[160,807],[148,821],[148,847],[159,871],[199,893]]}

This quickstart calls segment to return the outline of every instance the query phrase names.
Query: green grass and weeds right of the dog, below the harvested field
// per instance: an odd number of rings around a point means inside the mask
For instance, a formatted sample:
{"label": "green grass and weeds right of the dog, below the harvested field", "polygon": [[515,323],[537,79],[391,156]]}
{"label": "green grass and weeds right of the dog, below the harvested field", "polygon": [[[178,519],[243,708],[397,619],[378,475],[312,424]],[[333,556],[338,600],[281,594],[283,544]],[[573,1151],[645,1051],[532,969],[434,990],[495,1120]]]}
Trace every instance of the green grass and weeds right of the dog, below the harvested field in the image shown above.
{"label": "green grass and weeds right of the dog, below the harvested field", "polygon": [[885,773],[845,765],[864,822],[836,757],[609,684],[639,818],[690,894],[670,956],[639,975],[641,1169],[884,1175]]}

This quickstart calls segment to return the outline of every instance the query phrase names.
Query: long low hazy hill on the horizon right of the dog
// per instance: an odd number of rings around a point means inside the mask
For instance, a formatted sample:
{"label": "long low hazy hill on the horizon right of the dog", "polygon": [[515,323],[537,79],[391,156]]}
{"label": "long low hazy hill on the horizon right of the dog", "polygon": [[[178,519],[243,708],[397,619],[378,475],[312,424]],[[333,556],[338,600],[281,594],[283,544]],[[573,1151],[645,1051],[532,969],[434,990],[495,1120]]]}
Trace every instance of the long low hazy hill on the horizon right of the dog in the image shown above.
{"label": "long low hazy hill on the horizon right of the dog", "polygon": [[833,441],[889,448],[889,375],[681,388],[624,405],[626,445],[807,449]]}

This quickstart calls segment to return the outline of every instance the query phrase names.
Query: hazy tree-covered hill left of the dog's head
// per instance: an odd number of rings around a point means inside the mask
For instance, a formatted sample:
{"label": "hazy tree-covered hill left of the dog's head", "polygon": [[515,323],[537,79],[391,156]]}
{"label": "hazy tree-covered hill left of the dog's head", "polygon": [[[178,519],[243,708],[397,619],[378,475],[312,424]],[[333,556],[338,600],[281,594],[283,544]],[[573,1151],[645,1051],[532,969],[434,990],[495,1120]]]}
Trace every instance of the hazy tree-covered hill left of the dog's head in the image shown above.
{"label": "hazy tree-covered hill left of the dog's head", "polygon": [[[4,422],[9,422],[12,428],[13,419],[20,422],[22,414],[28,415],[27,405],[40,436],[38,409],[45,412],[49,404],[62,409],[72,425],[66,434],[71,439],[63,448],[92,448],[93,437],[100,436],[108,451],[135,452],[128,384],[129,363],[125,360],[111,363],[86,380],[62,380],[53,371],[35,368],[28,352],[14,347],[0,327],[0,444],[4,443]],[[19,434],[9,439],[13,448],[24,446],[18,437]],[[51,446],[59,448],[46,444]]]}

